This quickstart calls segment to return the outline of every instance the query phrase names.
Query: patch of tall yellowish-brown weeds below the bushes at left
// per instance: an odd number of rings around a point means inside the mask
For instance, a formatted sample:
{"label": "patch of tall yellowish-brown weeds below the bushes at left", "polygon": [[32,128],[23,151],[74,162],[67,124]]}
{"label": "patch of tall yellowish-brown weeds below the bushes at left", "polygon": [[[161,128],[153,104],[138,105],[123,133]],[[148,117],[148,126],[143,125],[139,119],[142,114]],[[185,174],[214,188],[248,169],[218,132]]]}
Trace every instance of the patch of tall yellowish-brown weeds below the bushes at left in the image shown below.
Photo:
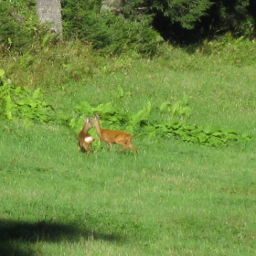
{"label": "patch of tall yellowish-brown weeds below the bushes at left", "polygon": [[99,60],[90,45],[74,40],[44,48],[33,46],[23,55],[2,61],[2,69],[16,86],[61,88],[69,82],[89,80]]}

